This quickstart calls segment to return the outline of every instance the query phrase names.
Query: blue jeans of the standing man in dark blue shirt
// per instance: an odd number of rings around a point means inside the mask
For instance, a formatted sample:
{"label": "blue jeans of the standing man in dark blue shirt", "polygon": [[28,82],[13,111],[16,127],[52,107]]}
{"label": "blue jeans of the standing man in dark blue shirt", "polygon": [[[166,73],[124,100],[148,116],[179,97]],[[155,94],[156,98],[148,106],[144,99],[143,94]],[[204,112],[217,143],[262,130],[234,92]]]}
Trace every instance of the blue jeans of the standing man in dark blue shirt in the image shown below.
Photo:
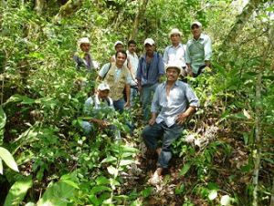
{"label": "blue jeans of the standing man in dark blue shirt", "polygon": [[142,86],[141,100],[143,119],[148,121],[151,114],[151,105],[153,101],[153,94],[159,84]]}

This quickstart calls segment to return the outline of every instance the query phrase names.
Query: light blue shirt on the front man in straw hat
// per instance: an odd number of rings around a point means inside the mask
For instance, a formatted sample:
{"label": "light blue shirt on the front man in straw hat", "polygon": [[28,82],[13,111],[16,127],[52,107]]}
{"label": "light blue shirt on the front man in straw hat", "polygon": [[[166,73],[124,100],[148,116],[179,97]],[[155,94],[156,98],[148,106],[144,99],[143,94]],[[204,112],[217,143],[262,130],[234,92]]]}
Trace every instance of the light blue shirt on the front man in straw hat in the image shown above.
{"label": "light blue shirt on the front man in straw hat", "polygon": [[177,115],[184,112],[188,106],[199,107],[199,99],[188,84],[176,81],[170,89],[169,97],[166,95],[166,82],[156,88],[153,96],[151,111],[158,113],[156,122],[164,121],[167,127],[174,125]]}

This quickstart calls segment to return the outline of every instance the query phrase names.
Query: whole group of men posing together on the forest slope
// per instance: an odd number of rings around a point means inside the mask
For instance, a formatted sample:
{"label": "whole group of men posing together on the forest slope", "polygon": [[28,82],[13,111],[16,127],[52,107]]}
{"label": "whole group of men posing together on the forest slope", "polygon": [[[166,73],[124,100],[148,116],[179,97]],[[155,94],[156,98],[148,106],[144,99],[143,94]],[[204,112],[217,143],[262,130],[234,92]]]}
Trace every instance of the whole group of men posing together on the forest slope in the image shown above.
{"label": "whole group of men posing together on the forest slope", "polygon": [[[191,32],[193,38],[183,45],[182,33],[177,28],[172,29],[169,34],[172,45],[164,49],[163,57],[155,51],[152,38],[144,40],[144,54],[140,58],[136,55],[134,40],[128,42],[127,51],[123,50],[123,43],[117,41],[115,55],[98,72],[96,81],[100,85],[95,98],[89,98],[85,104],[85,110],[92,106],[91,113],[96,117],[94,110],[99,108],[122,112],[125,107],[131,107],[133,99],[140,94],[143,120],[148,123],[142,138],[147,148],[158,154],[158,168],[150,180],[152,184],[161,180],[172,157],[171,144],[180,136],[185,120],[199,107],[199,100],[184,77],[197,77],[205,67],[210,67],[210,37],[202,33],[202,24],[197,21],[191,24]],[[74,56],[77,68],[95,69],[89,38],[81,38],[79,47],[80,52]],[[164,81],[163,76],[166,77]],[[100,128],[111,127],[106,118],[91,118],[85,122],[86,131],[90,131],[93,124]],[[161,138],[163,144],[159,147],[157,139]]]}

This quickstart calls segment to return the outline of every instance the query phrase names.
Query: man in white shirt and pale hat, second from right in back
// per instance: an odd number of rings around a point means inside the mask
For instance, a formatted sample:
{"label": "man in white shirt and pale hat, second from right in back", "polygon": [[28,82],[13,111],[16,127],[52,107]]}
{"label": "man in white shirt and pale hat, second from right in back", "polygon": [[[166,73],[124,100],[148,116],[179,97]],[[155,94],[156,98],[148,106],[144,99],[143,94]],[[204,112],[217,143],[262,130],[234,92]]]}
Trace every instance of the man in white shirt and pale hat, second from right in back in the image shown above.
{"label": "man in white shirt and pale hat, second from right in back", "polygon": [[182,32],[178,28],[173,28],[169,33],[172,45],[167,46],[163,52],[164,65],[177,64],[183,67],[183,76],[185,72],[185,45],[181,43]]}

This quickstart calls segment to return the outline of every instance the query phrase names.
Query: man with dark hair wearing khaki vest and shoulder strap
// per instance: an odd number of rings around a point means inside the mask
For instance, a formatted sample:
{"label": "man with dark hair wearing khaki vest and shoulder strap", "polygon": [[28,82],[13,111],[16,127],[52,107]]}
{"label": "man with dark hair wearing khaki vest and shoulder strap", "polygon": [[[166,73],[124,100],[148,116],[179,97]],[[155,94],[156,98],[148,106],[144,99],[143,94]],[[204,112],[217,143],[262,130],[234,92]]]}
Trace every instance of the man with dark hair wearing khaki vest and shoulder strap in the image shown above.
{"label": "man with dark hair wearing khaki vest and shoulder strap", "polygon": [[[97,80],[106,81],[111,88],[110,97],[113,99],[114,108],[122,112],[124,107],[130,107],[130,96],[131,96],[131,80],[129,69],[124,66],[124,62],[127,59],[127,53],[123,50],[116,52],[116,61],[109,65],[104,65],[99,71]],[[123,98],[123,89],[126,91],[125,102]]]}

